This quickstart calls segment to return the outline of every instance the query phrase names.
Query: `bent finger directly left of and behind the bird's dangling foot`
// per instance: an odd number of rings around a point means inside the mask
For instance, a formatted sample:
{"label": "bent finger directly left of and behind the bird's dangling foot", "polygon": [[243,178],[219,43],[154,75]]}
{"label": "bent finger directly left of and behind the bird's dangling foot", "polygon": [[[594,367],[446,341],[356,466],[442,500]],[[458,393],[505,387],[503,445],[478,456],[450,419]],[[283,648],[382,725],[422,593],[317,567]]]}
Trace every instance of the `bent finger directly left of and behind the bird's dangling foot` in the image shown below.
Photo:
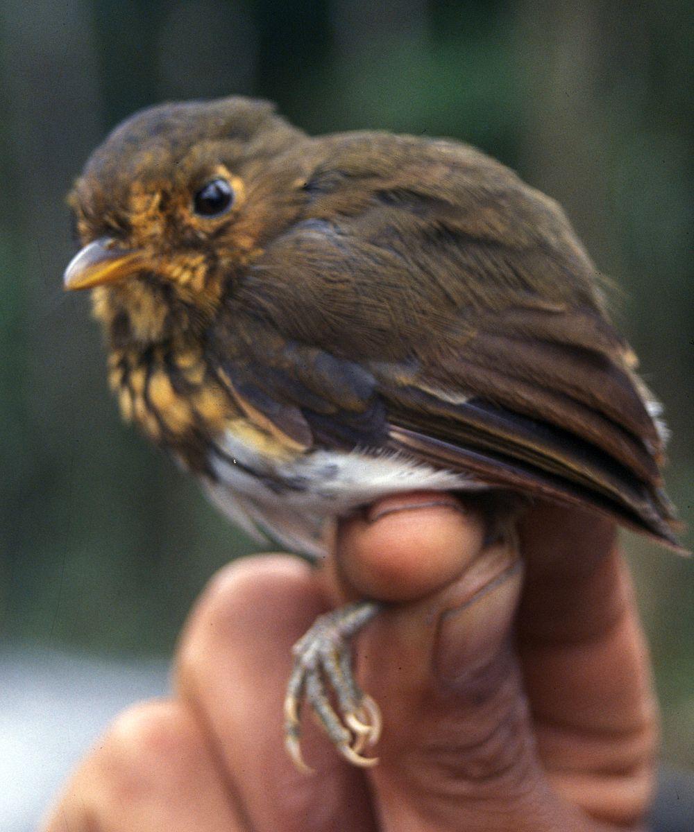
{"label": "bent finger directly left of and behind the bird's dangling foot", "polygon": [[257,832],[374,829],[361,772],[310,722],[302,748],[319,775],[297,771],[284,750],[292,644],[326,609],[297,558],[246,558],[212,582],[182,636],[178,690],[207,725]]}

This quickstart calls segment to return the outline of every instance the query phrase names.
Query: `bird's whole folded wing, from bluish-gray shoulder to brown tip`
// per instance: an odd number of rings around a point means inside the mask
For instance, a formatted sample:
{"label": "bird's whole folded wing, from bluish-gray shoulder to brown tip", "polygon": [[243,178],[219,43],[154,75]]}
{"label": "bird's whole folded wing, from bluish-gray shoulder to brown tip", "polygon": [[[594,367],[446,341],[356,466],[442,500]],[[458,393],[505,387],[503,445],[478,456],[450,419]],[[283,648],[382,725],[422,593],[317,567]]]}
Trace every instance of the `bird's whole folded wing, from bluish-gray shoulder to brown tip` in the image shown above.
{"label": "bird's whole folded wing, from bluish-gray shoulder to brown tip", "polygon": [[[544,344],[544,352],[533,343],[525,353],[520,342],[503,370],[455,359],[432,372],[413,360],[336,358],[258,322],[237,319],[235,329],[223,327],[216,337],[223,356],[217,366],[237,401],[295,447],[391,448],[499,488],[597,509],[677,545],[654,449],[637,431],[639,419],[650,417],[645,408],[641,414],[626,370],[596,354],[579,349],[561,364],[556,345]],[[566,383],[533,379],[531,356],[559,361]],[[591,362],[609,407],[601,406],[602,394],[590,401],[581,395],[577,380]],[[620,420],[621,406],[627,415]]]}

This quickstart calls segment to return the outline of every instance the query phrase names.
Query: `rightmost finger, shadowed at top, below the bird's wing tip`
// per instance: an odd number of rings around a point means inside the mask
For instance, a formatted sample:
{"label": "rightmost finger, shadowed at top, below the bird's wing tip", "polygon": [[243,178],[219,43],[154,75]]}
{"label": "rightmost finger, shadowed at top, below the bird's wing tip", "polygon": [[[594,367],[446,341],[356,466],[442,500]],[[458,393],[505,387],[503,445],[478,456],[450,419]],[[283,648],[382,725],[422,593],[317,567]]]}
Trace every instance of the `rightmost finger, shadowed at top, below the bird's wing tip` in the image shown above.
{"label": "rightmost finger, shadowed at top, below the bird's wing tip", "polygon": [[541,507],[521,536],[519,645],[539,754],[562,795],[635,823],[652,795],[657,706],[614,525]]}

